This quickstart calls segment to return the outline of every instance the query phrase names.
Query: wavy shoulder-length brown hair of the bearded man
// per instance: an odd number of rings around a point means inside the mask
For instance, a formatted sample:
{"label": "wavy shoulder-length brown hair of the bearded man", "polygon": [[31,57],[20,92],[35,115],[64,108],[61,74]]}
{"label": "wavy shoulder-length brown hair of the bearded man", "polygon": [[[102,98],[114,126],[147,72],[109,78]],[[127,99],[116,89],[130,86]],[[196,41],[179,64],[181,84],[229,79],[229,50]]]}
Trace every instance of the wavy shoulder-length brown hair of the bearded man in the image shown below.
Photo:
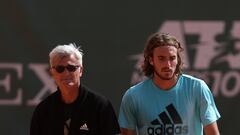
{"label": "wavy shoulder-length brown hair of the bearded man", "polygon": [[177,59],[178,64],[176,67],[175,74],[180,74],[182,72],[183,61],[180,55],[180,52],[183,51],[180,42],[176,39],[176,37],[166,34],[166,33],[154,33],[149,36],[146,46],[144,48],[144,63],[142,65],[143,73],[150,77],[153,75],[154,68],[149,63],[150,58],[153,57],[153,50],[159,46],[174,46],[177,48]]}

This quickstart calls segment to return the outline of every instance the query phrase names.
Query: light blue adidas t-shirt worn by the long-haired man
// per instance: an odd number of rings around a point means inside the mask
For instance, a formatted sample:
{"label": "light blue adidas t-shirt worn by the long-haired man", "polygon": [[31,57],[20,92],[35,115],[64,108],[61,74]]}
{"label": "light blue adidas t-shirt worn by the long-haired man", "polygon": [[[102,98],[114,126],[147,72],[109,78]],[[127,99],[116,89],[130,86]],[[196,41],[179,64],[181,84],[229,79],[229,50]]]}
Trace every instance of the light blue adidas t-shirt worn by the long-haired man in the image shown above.
{"label": "light blue adidas t-shirt worn by the long-haired man", "polygon": [[220,114],[203,80],[180,75],[170,90],[161,90],[147,79],[123,96],[119,124],[139,135],[203,135],[203,126]]}

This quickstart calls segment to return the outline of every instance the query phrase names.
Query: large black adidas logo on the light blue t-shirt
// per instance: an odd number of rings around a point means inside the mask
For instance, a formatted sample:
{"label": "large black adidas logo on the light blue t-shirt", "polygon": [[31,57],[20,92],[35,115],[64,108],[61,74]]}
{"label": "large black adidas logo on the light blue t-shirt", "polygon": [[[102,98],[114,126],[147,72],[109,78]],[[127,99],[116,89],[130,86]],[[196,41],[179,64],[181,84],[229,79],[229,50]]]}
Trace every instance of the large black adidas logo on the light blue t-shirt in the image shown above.
{"label": "large black adidas logo on the light blue t-shirt", "polygon": [[188,133],[188,126],[183,125],[182,118],[173,104],[168,105],[166,111],[161,112],[151,124],[153,127],[147,128],[148,135],[182,135]]}

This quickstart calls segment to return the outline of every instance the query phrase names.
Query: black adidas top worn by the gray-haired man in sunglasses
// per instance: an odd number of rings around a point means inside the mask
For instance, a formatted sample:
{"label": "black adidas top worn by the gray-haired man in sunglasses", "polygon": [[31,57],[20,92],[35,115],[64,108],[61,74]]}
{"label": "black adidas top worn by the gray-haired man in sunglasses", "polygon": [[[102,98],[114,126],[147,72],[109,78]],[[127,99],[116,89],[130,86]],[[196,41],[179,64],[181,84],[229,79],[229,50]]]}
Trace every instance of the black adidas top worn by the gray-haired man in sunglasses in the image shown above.
{"label": "black adidas top worn by the gray-haired man in sunglasses", "polygon": [[43,100],[33,113],[30,135],[63,135],[66,123],[69,135],[120,133],[110,101],[83,85],[79,90],[77,100],[69,105],[62,101],[59,90]]}

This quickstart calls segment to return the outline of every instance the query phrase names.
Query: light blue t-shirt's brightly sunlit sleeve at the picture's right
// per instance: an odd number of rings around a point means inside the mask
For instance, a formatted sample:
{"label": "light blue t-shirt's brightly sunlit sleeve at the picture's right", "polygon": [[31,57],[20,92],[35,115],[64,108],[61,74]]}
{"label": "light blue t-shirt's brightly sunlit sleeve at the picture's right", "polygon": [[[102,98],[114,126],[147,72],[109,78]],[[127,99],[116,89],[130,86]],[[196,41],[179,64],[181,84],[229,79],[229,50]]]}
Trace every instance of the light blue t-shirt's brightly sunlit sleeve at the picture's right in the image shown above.
{"label": "light blue t-shirt's brightly sunlit sleeve at the picture's right", "polygon": [[200,119],[203,126],[217,121],[221,116],[217,110],[213,95],[204,81],[200,83]]}

